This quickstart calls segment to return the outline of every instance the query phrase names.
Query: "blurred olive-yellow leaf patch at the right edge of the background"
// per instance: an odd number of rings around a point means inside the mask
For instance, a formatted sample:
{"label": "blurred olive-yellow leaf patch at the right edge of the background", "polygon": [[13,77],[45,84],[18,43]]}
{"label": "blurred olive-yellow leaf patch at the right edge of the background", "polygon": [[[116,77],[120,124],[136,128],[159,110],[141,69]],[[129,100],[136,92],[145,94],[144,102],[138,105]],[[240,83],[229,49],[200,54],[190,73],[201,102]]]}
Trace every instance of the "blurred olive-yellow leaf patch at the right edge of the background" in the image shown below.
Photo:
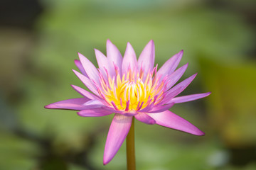
{"label": "blurred olive-yellow leaf patch at the right edge of the background", "polygon": [[201,60],[203,83],[214,91],[209,122],[225,145],[245,147],[256,142],[256,63],[223,64]]}

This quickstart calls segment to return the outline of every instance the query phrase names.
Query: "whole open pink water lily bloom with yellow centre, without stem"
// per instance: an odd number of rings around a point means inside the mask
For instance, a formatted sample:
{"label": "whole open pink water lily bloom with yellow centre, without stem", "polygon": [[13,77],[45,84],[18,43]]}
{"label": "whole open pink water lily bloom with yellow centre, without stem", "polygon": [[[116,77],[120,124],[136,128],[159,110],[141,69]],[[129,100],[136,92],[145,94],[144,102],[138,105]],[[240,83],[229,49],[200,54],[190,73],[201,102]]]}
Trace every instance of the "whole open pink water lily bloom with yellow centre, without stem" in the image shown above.
{"label": "whole open pink water lily bloom with yellow centre, without stem", "polygon": [[95,49],[98,69],[85,56],[80,53],[78,55],[80,60],[75,60],[75,64],[81,73],[75,70],[73,72],[92,93],[72,85],[82,98],[58,101],[46,108],[75,110],[83,117],[115,113],[107,135],[104,164],[108,164],[121,147],[133,116],[149,125],[158,124],[193,135],[204,135],[196,126],[169,111],[175,103],[193,101],[210,94],[176,97],[196,77],[193,74],[176,84],[188,67],[185,64],[176,69],[183,50],[171,57],[158,71],[157,64],[154,67],[153,40],[144,47],[139,60],[129,42],[122,57],[117,47],[107,40],[107,57]]}

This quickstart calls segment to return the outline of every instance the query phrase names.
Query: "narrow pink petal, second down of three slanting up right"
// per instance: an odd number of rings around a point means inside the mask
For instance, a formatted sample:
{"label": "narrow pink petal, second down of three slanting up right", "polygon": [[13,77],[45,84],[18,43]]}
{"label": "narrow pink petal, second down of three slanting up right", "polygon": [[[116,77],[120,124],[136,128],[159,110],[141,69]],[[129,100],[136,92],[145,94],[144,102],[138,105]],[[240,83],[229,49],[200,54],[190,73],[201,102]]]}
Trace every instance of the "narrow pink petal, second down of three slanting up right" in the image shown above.
{"label": "narrow pink petal, second down of three slanting up right", "polygon": [[[169,90],[176,82],[181,79],[182,75],[188,68],[188,63],[178,68],[175,72],[173,72],[169,77],[169,82],[167,83],[166,90]],[[164,77],[163,77],[164,78]]]}

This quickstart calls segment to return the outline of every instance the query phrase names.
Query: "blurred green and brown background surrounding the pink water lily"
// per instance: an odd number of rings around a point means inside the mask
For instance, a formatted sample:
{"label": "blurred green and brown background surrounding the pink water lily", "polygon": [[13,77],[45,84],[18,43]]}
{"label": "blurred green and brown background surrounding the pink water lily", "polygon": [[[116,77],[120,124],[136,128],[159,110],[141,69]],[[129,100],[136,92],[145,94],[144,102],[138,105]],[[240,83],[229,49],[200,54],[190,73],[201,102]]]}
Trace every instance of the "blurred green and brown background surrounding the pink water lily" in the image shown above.
{"label": "blurred green and brown background surrounding the pink water lily", "polygon": [[206,132],[197,137],[135,122],[137,169],[256,169],[254,0],[1,0],[0,169],[126,169],[125,145],[102,165],[112,115],[82,118],[43,106],[79,97],[71,69],[107,39],[140,54],[153,39],[156,62],[184,50],[183,94],[212,91],[171,111]]}

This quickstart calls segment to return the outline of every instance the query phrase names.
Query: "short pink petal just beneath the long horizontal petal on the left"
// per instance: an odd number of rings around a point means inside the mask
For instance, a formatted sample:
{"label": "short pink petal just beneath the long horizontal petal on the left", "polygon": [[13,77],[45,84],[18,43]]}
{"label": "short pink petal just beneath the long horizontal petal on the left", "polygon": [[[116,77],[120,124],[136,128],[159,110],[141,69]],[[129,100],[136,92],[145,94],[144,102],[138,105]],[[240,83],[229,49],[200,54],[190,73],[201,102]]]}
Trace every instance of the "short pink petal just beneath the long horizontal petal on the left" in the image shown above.
{"label": "short pink petal just beneath the long horizontal petal on the left", "polygon": [[92,108],[78,112],[78,115],[82,117],[100,117],[110,114],[112,114],[112,112],[106,111],[104,108]]}

